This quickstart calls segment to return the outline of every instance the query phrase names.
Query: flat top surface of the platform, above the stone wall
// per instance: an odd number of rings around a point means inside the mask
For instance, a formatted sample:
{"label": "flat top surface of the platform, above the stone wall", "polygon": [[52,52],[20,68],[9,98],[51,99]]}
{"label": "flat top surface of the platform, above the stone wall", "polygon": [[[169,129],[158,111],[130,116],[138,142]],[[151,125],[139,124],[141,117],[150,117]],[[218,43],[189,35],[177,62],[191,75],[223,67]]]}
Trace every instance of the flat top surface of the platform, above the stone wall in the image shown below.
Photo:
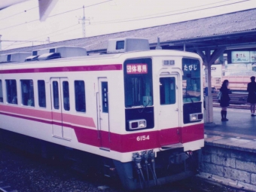
{"label": "flat top surface of the platform, above the stone wall", "polygon": [[256,140],[256,117],[249,110],[227,108],[229,120],[221,121],[221,108],[213,108],[213,117],[216,126],[205,126],[206,135]]}

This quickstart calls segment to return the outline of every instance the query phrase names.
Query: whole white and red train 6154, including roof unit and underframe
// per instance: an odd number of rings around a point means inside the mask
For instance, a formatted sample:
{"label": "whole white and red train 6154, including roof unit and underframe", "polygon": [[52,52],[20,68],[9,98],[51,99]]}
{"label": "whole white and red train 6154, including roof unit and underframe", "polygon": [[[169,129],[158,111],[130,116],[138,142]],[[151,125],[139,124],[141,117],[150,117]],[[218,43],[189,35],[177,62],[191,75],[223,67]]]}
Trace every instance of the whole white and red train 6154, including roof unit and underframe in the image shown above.
{"label": "whole white and red train 6154, including roof unit and underframe", "polygon": [[110,39],[105,54],[46,54],[0,65],[2,141],[79,159],[84,170],[93,164],[127,190],[197,173],[204,146],[199,55],[150,50],[144,38]]}

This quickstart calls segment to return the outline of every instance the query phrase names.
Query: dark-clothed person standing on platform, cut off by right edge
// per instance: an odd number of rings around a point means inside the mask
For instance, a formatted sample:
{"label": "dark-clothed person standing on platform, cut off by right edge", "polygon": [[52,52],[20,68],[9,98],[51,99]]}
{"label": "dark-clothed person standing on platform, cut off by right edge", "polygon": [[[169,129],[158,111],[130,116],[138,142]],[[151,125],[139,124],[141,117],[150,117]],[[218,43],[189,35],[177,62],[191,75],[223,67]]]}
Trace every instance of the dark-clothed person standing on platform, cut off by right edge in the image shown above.
{"label": "dark-clothed person standing on platform, cut off by right edge", "polygon": [[248,98],[247,102],[251,104],[251,117],[256,116],[255,115],[255,104],[256,104],[256,82],[255,77],[251,77],[251,83],[248,83],[247,85],[247,91],[248,91]]}

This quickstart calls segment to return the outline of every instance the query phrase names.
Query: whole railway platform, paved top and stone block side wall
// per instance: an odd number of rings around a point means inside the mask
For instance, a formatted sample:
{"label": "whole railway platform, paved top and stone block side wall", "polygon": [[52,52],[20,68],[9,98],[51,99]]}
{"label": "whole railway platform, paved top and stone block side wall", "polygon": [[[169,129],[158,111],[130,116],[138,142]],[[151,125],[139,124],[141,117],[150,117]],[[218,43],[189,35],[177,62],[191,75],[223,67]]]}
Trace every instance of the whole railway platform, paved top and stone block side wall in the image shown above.
{"label": "whole railway platform, paved top and stone block side wall", "polygon": [[205,126],[205,147],[200,159],[200,178],[239,190],[256,191],[256,117],[248,109],[213,108],[216,126]]}

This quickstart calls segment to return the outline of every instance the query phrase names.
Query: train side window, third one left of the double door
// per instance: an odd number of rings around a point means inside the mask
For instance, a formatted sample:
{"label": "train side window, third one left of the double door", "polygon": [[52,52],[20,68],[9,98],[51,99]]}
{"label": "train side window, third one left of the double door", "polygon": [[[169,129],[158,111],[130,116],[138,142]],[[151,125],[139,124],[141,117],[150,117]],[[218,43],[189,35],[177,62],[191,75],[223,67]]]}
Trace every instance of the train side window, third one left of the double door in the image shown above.
{"label": "train side window, third one left of the double door", "polygon": [[18,104],[17,99],[17,83],[16,80],[5,80],[6,83],[6,93],[7,93],[7,102],[11,104]]}

